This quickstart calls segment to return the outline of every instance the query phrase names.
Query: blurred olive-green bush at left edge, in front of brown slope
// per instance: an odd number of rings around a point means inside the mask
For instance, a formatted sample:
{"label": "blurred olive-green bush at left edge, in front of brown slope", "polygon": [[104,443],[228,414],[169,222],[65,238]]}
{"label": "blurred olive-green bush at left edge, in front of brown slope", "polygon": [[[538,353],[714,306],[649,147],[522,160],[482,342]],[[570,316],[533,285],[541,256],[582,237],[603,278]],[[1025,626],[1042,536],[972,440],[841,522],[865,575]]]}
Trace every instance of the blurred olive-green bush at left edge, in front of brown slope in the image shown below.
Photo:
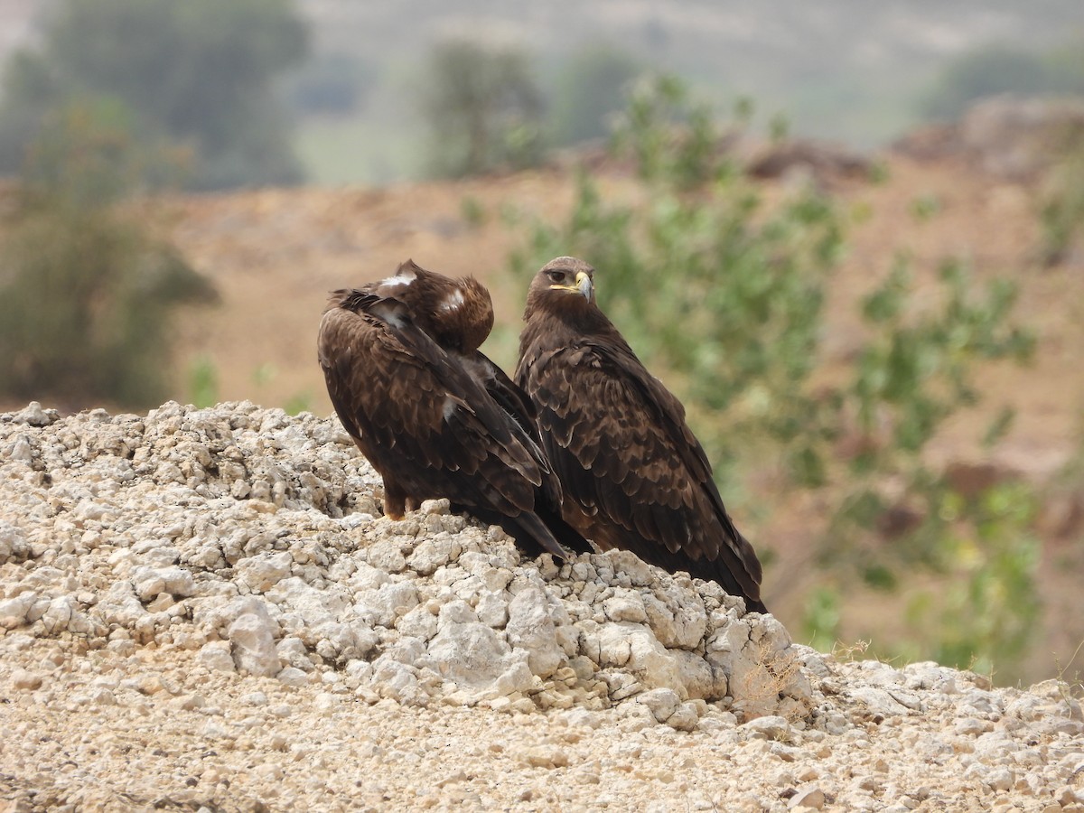
{"label": "blurred olive-green bush at left edge, in front of brown slope", "polygon": [[214,291],[126,201],[146,160],[116,105],[73,102],[42,121],[0,223],[0,391],[65,409],[160,403],[169,313]]}

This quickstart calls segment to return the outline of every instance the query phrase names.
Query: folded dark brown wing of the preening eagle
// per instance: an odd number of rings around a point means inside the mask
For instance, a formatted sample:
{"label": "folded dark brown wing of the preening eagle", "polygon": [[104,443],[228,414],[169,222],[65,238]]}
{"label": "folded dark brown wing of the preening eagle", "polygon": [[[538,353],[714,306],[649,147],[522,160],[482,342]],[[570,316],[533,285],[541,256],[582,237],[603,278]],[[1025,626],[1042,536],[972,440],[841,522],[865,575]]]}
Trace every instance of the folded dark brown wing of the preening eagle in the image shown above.
{"label": "folded dark brown wing of the preening eagle", "polygon": [[542,468],[519,425],[395,299],[354,292],[324,313],[319,358],[343,425],[413,495],[516,516]]}

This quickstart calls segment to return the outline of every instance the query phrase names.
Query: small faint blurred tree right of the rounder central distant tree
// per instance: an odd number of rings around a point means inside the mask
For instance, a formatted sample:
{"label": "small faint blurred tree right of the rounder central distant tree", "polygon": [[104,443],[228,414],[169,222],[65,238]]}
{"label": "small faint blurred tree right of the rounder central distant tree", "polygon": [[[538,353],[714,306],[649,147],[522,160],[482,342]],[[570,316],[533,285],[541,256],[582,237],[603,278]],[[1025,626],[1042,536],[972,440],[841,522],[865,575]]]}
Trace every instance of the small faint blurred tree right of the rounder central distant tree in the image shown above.
{"label": "small faint blurred tree right of the rounder central distant tree", "polygon": [[553,105],[554,141],[575,144],[609,133],[607,118],[624,107],[624,92],[643,66],[608,46],[575,53],[557,76]]}

